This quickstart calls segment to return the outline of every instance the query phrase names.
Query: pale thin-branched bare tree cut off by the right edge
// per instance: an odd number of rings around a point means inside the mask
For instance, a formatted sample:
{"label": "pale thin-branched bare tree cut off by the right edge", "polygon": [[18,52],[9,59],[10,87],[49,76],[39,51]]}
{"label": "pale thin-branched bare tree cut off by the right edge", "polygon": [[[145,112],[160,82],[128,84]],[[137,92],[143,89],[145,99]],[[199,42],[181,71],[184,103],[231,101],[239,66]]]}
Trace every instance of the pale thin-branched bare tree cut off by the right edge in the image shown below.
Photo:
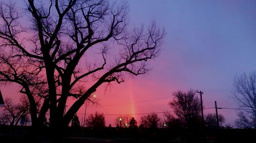
{"label": "pale thin-branched bare tree cut off by the right edge", "polygon": [[241,74],[234,78],[234,98],[240,110],[236,125],[239,128],[256,128],[256,73]]}

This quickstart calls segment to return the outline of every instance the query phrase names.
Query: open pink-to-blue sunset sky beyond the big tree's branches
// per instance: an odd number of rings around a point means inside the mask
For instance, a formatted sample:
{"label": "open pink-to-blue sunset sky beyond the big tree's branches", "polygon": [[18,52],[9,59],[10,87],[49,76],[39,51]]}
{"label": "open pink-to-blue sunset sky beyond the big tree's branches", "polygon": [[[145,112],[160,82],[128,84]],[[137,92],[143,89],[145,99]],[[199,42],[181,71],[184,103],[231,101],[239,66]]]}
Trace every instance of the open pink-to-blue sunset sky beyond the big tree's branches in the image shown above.
{"label": "open pink-to-blue sunset sky beyond the big tree's branches", "polygon": [[[233,78],[255,70],[256,1],[153,1],[129,0],[129,27],[152,20],[166,32],[151,72],[114,83],[107,91],[95,92],[99,105],[89,104],[87,114],[104,113],[106,125],[115,126],[117,115],[172,111],[168,102],[178,90],[202,91],[205,108],[237,108]],[[18,96],[1,87],[4,98]],[[196,96],[200,97],[199,94]],[[72,101],[70,101],[72,102]],[[69,106],[67,106],[67,109]],[[204,109],[204,114],[215,109]],[[233,125],[237,110],[219,109],[225,124]],[[84,106],[78,111],[80,122]],[[88,116],[88,115],[87,115]],[[163,118],[163,113],[158,113]]]}

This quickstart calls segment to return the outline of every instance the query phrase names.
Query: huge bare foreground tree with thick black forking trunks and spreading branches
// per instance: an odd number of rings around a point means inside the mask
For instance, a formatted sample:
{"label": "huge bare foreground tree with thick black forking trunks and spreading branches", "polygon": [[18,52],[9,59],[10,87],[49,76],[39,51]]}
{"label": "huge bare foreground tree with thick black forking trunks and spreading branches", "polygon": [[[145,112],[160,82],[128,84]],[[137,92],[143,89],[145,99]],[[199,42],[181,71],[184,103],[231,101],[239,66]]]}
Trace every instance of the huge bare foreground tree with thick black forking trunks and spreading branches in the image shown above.
{"label": "huge bare foreground tree with thick black forking trunks and spreading branches", "polygon": [[22,86],[34,129],[50,110],[50,127],[62,131],[98,87],[149,71],[164,32],[155,22],[129,32],[126,3],[111,2],[27,0],[26,22],[15,5],[1,3],[0,81]]}

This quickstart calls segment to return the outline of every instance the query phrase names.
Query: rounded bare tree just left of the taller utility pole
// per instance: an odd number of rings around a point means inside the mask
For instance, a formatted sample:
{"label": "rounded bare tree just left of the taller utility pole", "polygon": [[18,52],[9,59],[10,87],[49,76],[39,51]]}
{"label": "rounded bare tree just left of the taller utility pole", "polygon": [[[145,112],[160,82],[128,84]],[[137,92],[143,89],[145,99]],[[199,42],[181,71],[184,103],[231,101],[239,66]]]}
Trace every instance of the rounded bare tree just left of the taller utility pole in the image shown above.
{"label": "rounded bare tree just left of the taller utility pole", "polygon": [[174,99],[169,102],[184,127],[194,127],[200,122],[200,100],[195,94],[194,90],[189,90],[187,93],[177,91],[173,94]]}

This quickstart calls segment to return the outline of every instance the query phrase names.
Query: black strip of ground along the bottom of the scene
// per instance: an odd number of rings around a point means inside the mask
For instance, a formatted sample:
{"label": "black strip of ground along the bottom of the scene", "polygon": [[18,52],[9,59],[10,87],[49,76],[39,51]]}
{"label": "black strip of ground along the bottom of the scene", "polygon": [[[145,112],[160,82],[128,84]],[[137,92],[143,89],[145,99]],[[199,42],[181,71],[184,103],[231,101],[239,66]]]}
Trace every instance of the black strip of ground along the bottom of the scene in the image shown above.
{"label": "black strip of ground along the bottom of the scene", "polygon": [[67,129],[65,135],[56,138],[49,136],[50,129],[46,128],[40,135],[31,135],[30,127],[0,126],[0,143],[5,142],[113,142],[113,143],[158,143],[158,142],[255,142],[255,129],[205,129],[205,130],[172,130],[172,129],[131,129],[131,128],[84,128],[80,130]]}

